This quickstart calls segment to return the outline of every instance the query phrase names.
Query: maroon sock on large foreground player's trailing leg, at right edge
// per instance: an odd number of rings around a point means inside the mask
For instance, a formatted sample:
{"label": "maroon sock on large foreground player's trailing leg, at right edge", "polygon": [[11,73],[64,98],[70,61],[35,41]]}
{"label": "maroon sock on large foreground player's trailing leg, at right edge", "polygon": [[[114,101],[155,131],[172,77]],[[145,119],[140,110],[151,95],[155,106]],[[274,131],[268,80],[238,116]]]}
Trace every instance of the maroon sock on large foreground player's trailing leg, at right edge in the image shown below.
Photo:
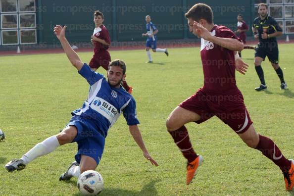
{"label": "maroon sock on large foreground player's trailing leg, at right edge", "polygon": [[279,147],[271,139],[259,135],[259,142],[255,148],[271,159],[283,172],[290,169],[291,161],[285,158]]}

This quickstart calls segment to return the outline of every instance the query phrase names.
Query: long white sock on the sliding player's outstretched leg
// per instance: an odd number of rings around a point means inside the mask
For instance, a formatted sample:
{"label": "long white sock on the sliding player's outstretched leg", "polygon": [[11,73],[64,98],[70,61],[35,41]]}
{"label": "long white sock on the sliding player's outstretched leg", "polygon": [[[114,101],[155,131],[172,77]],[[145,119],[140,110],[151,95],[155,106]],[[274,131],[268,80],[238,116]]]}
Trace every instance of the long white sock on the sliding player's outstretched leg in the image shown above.
{"label": "long white sock on the sliding player's outstretched leg", "polygon": [[27,153],[22,156],[22,160],[24,164],[28,164],[32,160],[43,156],[45,154],[49,154],[50,152],[54,151],[57,147],[59,147],[59,142],[56,136],[51,136],[44,140],[43,142],[37,144],[35,147],[30,149]]}

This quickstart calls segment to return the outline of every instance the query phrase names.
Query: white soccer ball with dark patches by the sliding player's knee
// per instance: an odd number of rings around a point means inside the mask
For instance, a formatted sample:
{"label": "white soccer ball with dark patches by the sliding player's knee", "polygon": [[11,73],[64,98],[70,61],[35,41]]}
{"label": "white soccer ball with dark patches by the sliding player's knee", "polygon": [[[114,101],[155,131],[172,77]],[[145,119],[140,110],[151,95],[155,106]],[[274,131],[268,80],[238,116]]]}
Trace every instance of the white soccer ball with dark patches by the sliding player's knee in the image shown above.
{"label": "white soccer ball with dark patches by the sliding player's knee", "polygon": [[97,171],[85,171],[78,179],[78,188],[84,196],[96,196],[103,190],[103,178]]}

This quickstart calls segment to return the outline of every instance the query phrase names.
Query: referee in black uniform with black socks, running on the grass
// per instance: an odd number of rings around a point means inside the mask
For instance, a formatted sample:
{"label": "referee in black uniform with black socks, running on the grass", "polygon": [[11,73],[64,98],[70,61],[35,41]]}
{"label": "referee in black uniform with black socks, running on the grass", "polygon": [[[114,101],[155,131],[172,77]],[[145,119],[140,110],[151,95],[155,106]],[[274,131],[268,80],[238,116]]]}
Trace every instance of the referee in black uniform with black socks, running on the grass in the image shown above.
{"label": "referee in black uniform with black socks, running on the grass", "polygon": [[277,21],[268,15],[267,4],[258,4],[259,17],[254,19],[252,31],[255,39],[259,39],[257,48],[255,49],[254,65],[261,85],[255,88],[256,91],[266,89],[261,62],[267,56],[273,68],[277,72],[281,80],[280,89],[287,89],[287,84],[284,80],[283,71],[279,66],[279,49],[276,37],[283,34],[283,30],[278,25]]}

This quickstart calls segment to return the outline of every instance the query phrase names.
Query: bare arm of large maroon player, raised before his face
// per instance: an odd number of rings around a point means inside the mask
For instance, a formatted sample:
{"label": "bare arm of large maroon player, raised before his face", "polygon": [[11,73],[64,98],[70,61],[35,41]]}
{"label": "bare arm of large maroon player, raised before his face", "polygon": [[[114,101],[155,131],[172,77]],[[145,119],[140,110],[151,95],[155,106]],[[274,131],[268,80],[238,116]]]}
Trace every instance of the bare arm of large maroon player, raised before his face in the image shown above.
{"label": "bare arm of large maroon player, raised before his face", "polygon": [[239,42],[236,39],[219,38],[219,37],[210,35],[209,31],[206,28],[204,28],[201,24],[197,23],[196,21],[194,21],[194,24],[193,24],[193,32],[198,37],[203,38],[204,40],[217,44],[226,49],[230,49],[233,51],[241,51],[244,48],[243,43]]}

